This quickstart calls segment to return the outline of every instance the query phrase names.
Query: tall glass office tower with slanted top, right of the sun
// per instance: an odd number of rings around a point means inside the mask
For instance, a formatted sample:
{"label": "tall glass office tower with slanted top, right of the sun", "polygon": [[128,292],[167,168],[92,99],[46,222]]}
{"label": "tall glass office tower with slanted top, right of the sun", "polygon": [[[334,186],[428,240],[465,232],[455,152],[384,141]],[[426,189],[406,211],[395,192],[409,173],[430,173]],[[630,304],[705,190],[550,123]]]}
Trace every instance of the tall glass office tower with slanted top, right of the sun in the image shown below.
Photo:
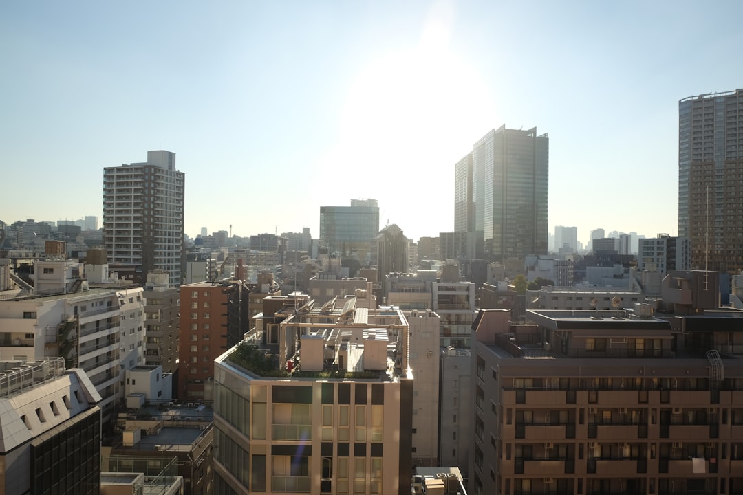
{"label": "tall glass office tower with slanted top, right of the sun", "polygon": [[548,155],[547,134],[536,128],[503,125],[475,143],[472,203],[487,258],[547,254]]}

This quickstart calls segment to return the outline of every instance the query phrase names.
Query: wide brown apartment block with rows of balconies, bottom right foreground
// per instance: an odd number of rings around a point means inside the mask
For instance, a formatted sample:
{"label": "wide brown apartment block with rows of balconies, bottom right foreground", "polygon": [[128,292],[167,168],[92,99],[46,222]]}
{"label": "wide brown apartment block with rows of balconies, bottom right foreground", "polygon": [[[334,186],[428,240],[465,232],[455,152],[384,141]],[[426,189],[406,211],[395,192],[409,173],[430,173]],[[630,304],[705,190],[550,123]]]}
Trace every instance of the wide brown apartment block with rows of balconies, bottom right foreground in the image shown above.
{"label": "wide brown apartment block with rows of balconies, bottom right foreground", "polygon": [[743,491],[737,312],[481,310],[474,494]]}

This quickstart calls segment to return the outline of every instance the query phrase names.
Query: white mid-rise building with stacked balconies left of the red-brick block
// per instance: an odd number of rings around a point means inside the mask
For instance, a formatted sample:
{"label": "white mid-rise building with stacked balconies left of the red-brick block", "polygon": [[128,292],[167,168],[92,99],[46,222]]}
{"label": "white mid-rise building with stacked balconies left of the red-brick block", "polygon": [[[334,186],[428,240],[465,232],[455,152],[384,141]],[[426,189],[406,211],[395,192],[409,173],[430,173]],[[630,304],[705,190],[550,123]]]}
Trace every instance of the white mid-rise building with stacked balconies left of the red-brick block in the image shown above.
{"label": "white mid-rise building with stacked balconies left of the red-brick block", "polygon": [[[0,301],[0,358],[35,361],[58,355],[68,367],[82,368],[101,396],[98,406],[107,422],[123,401],[123,370],[143,363],[143,289],[116,281],[93,285],[94,266],[91,285],[70,283],[59,275],[71,266],[68,260],[38,263],[38,273],[59,281],[57,293],[45,286],[47,295]],[[77,262],[72,265],[87,272]],[[69,292],[71,286],[77,289]]]}

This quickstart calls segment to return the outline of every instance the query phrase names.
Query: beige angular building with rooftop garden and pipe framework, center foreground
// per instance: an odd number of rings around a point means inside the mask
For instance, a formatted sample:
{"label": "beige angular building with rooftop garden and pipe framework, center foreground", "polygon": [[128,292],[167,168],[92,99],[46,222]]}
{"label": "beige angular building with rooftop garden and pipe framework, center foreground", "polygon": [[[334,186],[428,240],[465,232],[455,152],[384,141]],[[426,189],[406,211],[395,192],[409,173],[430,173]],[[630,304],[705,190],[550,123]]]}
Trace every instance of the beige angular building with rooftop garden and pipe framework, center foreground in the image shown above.
{"label": "beige angular building with rooftop garden and pipe framework, center foreground", "polygon": [[215,361],[217,493],[411,493],[408,324],[355,300],[287,308],[279,344]]}

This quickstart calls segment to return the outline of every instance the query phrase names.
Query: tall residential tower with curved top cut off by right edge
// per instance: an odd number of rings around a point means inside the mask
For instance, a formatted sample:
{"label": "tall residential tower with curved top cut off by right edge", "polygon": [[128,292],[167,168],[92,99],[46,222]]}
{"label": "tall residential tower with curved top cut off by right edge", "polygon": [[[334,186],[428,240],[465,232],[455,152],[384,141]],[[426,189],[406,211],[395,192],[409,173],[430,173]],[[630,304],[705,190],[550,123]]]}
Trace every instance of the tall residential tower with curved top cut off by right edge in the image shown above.
{"label": "tall residential tower with curved top cut off by right edge", "polygon": [[743,269],[743,89],[678,102],[678,236],[692,267]]}

